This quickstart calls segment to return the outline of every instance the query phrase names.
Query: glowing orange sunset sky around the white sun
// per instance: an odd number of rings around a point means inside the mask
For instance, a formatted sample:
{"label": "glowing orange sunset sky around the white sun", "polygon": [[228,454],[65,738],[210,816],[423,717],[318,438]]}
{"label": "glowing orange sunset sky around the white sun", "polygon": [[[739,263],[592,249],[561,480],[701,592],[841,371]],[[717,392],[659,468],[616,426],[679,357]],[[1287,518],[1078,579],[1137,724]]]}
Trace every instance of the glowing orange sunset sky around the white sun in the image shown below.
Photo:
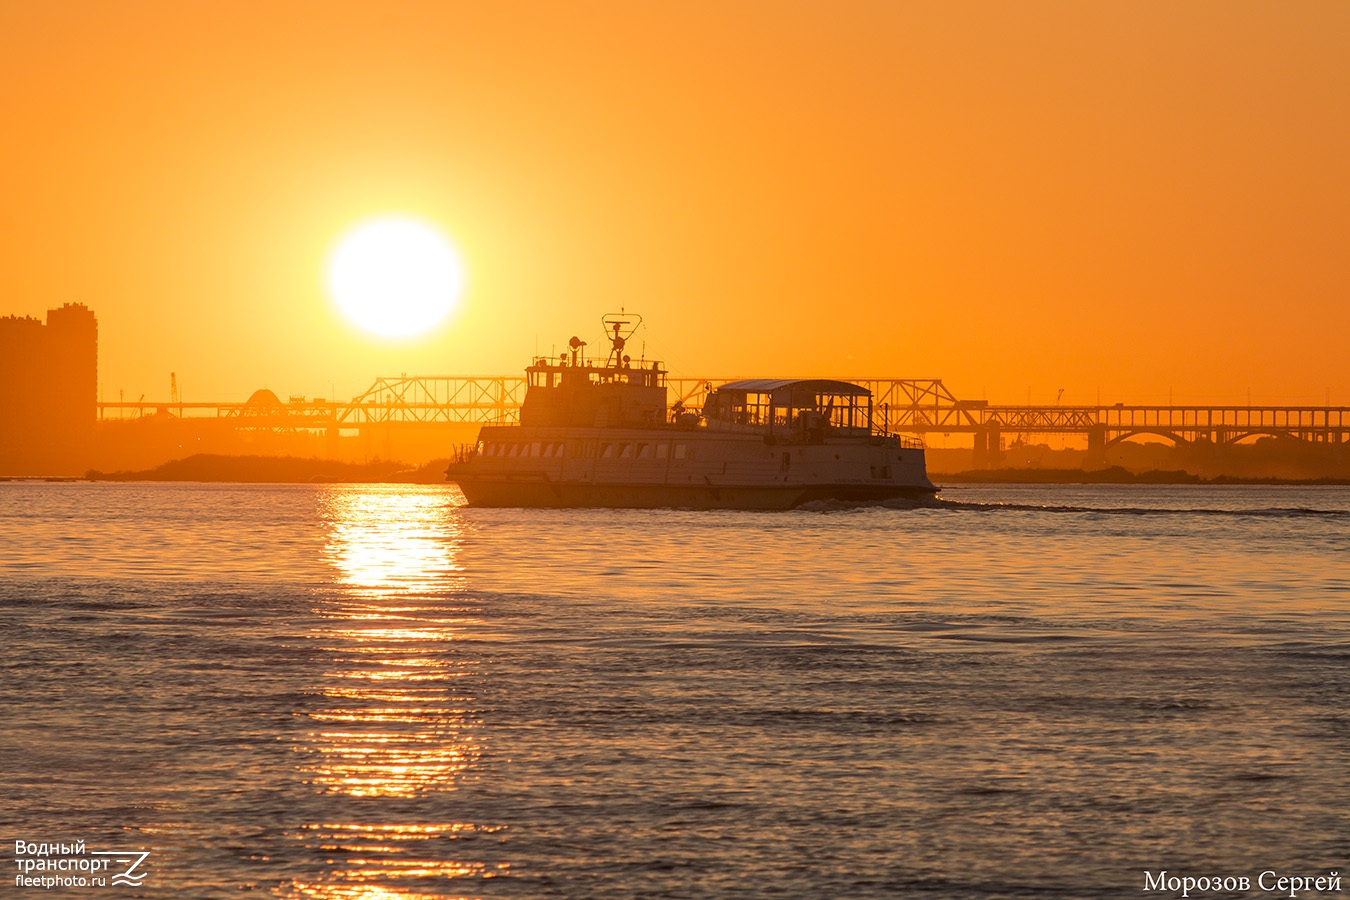
{"label": "glowing orange sunset sky around the white sun", "polygon": [[[620,305],[684,375],[1350,405],[1350,4],[0,3],[0,314],[104,399],[518,374]],[[354,331],[363,217],[460,313]]]}

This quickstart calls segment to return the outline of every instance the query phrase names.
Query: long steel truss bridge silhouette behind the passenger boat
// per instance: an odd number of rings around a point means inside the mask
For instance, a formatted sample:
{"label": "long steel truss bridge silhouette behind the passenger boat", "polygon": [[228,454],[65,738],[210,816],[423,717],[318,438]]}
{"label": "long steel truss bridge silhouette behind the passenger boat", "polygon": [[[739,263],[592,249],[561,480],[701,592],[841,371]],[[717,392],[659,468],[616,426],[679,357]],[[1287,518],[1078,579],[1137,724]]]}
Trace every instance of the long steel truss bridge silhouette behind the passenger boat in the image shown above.
{"label": "long steel truss bridge silhouette behind the passenger boat", "polygon": [[[667,378],[671,401],[698,407],[711,386],[733,378]],[[996,456],[1007,436],[1076,434],[1088,449],[1152,436],[1173,444],[1235,444],[1251,437],[1350,444],[1350,406],[1034,406],[959,399],[937,378],[848,378],[872,391],[875,418],[888,432],[971,434],[976,456]],[[243,429],[336,433],[400,424],[513,422],[525,398],[522,376],[381,378],[351,401],[279,399],[256,391],[243,403],[99,403],[100,418],[216,420]]]}

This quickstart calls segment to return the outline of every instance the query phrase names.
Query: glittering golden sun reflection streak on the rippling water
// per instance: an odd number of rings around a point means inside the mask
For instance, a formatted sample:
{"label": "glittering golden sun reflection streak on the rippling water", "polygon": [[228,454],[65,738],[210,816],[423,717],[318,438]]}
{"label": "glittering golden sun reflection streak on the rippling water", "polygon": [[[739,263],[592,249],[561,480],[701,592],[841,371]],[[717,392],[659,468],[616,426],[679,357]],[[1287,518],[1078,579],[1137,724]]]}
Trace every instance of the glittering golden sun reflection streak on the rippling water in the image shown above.
{"label": "glittering golden sun reflection streak on the rippling water", "polygon": [[[479,760],[479,663],[456,641],[473,621],[456,561],[462,524],[444,491],[333,488],[324,498],[325,553],[340,594],[325,596],[313,631],[319,708],[298,769],[329,812],[398,810],[454,792]],[[346,797],[346,799],[344,799]],[[383,806],[379,801],[394,801]],[[371,804],[375,806],[371,806]],[[355,806],[359,804],[359,806]],[[328,820],[294,833],[327,868],[282,893],[342,900],[421,900],[428,880],[486,878],[508,864],[462,858],[459,838],[500,831],[471,822]]]}

